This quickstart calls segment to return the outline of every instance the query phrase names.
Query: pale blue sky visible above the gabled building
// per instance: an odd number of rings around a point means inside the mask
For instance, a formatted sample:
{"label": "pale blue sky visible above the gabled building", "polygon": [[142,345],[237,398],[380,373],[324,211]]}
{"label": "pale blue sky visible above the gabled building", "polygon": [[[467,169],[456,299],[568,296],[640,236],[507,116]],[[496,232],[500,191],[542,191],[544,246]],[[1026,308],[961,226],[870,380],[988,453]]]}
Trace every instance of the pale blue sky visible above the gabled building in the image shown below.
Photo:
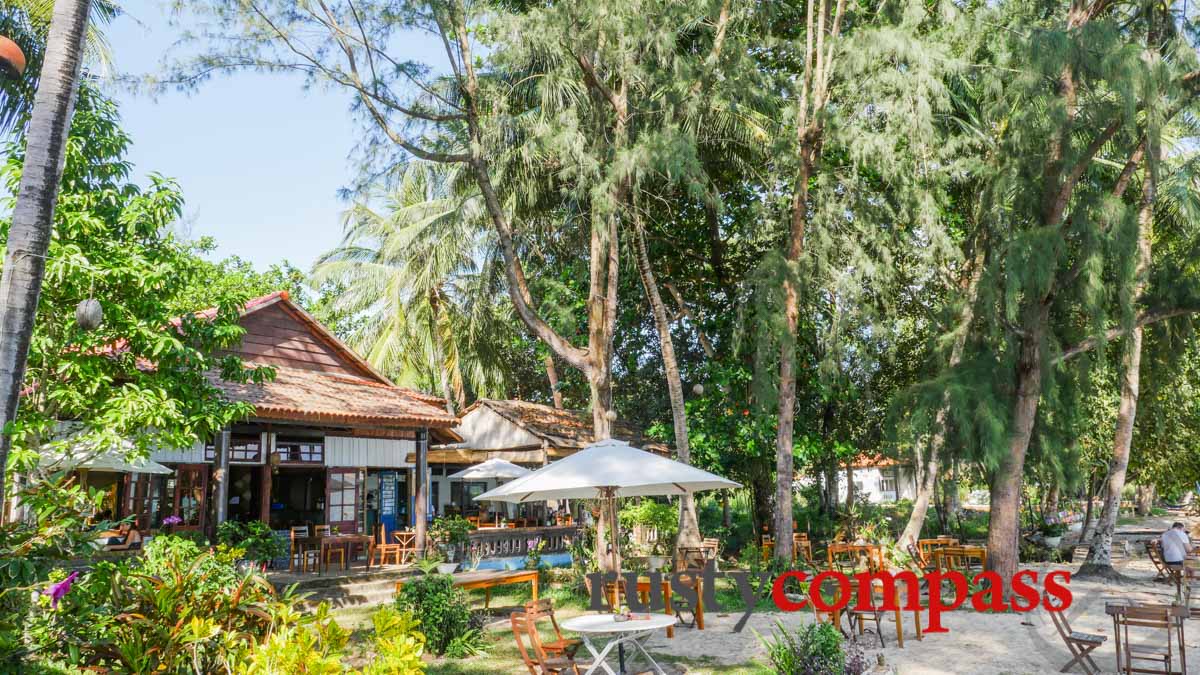
{"label": "pale blue sky visible above the gabled building", "polygon": [[[176,37],[166,10],[155,0],[121,6],[126,16],[106,31],[116,70],[155,72]],[[134,174],[179,180],[184,229],[216,238],[216,256],[258,268],[287,259],[307,270],[341,239],[347,203],[337,190],[354,174],[348,156],[356,137],[346,92],[305,91],[299,77],[239,73],[194,94],[115,97],[133,138]]]}

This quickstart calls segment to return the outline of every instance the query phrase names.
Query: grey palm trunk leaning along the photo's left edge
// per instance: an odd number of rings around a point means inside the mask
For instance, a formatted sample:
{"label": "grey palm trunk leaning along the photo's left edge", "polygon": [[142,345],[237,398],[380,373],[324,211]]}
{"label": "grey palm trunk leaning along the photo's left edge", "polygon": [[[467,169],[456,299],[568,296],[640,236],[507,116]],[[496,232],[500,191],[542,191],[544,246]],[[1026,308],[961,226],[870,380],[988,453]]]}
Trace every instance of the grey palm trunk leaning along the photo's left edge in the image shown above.
{"label": "grey palm trunk leaning along the photo's left edge", "polygon": [[[25,163],[0,271],[0,430],[17,417],[25,360],[46,274],[67,131],[79,90],[89,0],[58,0],[50,18],[34,112],[25,136]],[[12,438],[0,434],[0,504],[5,502]],[[0,508],[0,512],[4,509]]]}

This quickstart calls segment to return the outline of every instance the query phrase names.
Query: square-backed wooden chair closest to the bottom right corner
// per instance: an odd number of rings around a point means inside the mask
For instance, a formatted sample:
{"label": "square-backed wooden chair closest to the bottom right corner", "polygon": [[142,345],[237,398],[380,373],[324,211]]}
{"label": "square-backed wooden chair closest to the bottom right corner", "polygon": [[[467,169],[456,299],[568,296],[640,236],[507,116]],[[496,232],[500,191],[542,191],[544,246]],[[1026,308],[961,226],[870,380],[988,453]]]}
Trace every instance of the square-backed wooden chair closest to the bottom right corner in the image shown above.
{"label": "square-backed wooden chair closest to the bottom right corner", "polygon": [[[1112,634],[1116,635],[1117,673],[1187,673],[1187,656],[1183,653],[1183,608],[1172,605],[1109,605],[1112,614]],[[1178,615],[1176,614],[1178,613]],[[1146,628],[1153,633],[1165,634],[1165,645],[1134,644],[1129,639],[1129,628]],[[1136,637],[1136,635],[1135,635]],[[1175,665],[1176,643],[1180,649],[1180,670]],[[1136,663],[1136,665],[1135,665]],[[1147,664],[1154,664],[1151,669]]]}

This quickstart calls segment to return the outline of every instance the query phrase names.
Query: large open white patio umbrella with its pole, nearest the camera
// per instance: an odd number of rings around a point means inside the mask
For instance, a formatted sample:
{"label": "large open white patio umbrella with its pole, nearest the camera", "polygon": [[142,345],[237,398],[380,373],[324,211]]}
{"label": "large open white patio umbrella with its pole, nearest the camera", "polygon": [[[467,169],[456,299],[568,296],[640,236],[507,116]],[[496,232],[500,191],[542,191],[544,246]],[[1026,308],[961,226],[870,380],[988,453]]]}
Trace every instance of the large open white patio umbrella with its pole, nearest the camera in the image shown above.
{"label": "large open white patio umbrella with its pole, nearest the camera", "polygon": [[604,500],[612,524],[612,563],[620,567],[617,550],[617,497],[689,495],[740,484],[624,441],[596,441],[565,459],[505,483],[476,501],[530,502],[540,500]]}

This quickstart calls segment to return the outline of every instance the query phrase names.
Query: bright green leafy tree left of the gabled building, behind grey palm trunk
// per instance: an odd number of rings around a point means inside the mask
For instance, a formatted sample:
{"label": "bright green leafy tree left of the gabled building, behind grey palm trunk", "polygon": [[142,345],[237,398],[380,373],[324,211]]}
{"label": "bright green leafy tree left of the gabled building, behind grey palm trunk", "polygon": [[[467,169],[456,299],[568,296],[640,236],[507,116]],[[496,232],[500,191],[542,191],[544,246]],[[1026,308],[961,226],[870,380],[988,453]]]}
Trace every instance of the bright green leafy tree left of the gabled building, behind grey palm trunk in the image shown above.
{"label": "bright green leafy tree left of the gabled building, behind grey palm trunk", "polygon": [[[115,106],[82,86],[10,468],[32,471],[67,443],[76,452],[125,448],[140,456],[156,447],[188,447],[252,412],[227,401],[214,374],[232,382],[272,375],[222,353],[241,336],[245,295],[217,298],[212,316],[179,317],[174,299],[193,283],[198,259],[170,232],[182,196],[157,174],[146,187],[132,183],[128,143]],[[16,193],[24,148],[10,144],[7,157],[0,178]],[[11,207],[6,199],[0,213]],[[0,237],[7,237],[8,225],[0,219]],[[103,307],[96,330],[74,322],[85,298]],[[60,420],[71,420],[66,436]]]}

